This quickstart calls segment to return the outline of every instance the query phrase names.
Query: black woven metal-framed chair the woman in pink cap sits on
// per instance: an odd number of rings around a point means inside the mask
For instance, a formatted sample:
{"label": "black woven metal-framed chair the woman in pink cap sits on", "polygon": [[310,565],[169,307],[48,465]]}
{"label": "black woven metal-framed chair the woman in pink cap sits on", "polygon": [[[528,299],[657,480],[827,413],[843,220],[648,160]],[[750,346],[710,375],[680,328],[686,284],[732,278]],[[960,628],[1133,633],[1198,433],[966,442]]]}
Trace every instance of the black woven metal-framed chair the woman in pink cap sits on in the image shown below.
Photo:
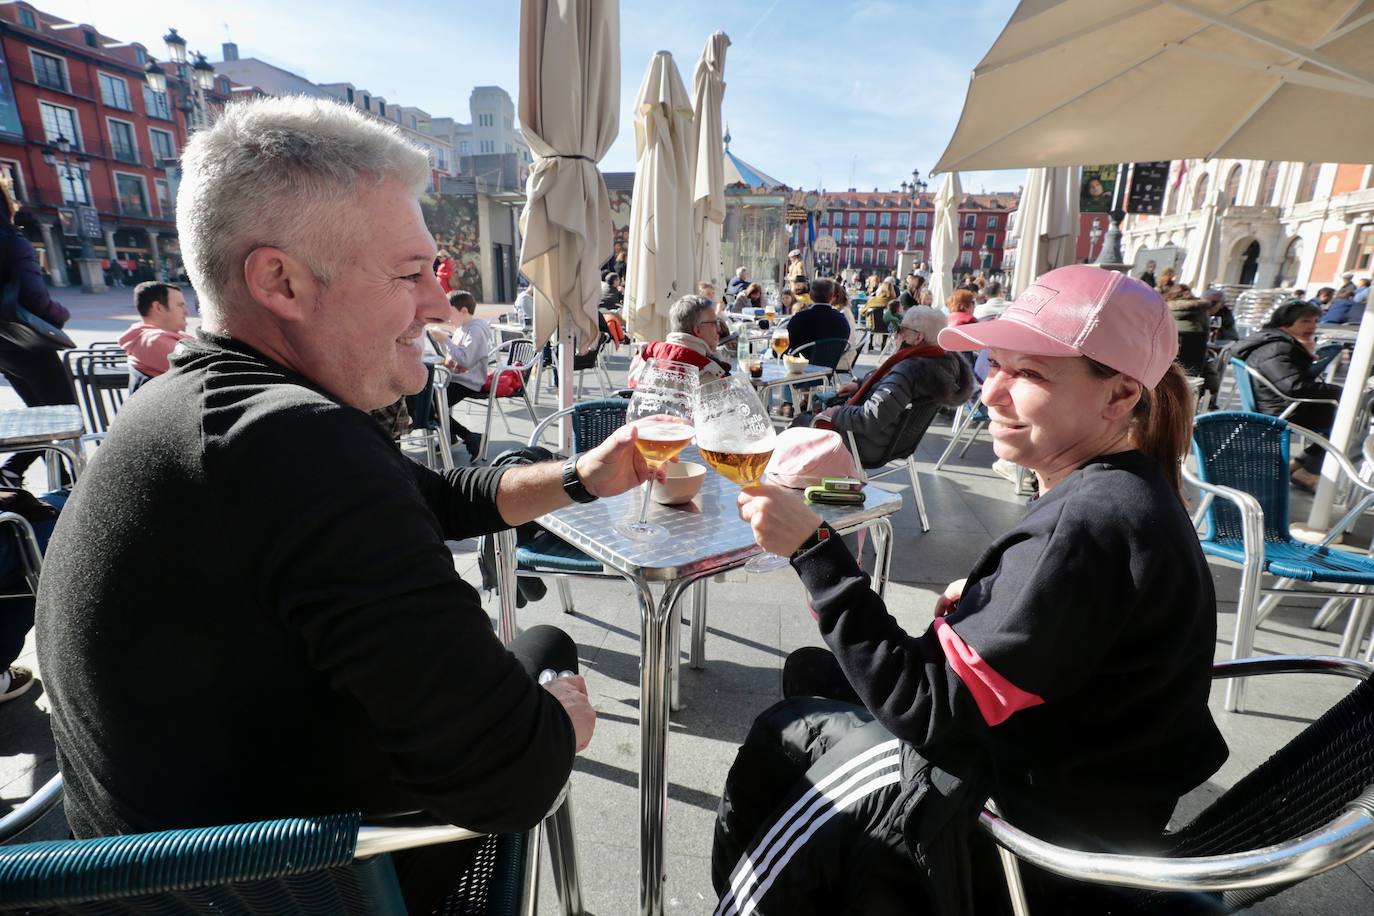
{"label": "black woven metal-framed chair the woman in pink cap sits on", "polygon": [[[1374,849],[1374,666],[1271,655],[1219,662],[1212,669],[1213,678],[1292,673],[1340,674],[1360,683],[1186,827],[1165,834],[1157,856],[1054,846],[1017,828],[996,805],[985,808],[978,825],[1000,846],[1013,912],[1030,912],[1022,861],[1092,884],[1217,893],[1221,900],[1210,912],[1237,912]],[[1165,906],[1149,897],[1124,912]]]}

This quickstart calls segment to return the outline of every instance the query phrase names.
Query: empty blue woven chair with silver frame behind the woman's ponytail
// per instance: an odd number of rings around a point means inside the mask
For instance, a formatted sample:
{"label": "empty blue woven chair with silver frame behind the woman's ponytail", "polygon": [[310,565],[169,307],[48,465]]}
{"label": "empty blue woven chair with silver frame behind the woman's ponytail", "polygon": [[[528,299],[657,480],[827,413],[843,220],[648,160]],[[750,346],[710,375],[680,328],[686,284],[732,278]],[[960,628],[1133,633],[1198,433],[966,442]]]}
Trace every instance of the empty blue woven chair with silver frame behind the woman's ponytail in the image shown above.
{"label": "empty blue woven chair with silver frame behind the woman's ponytail", "polygon": [[[1294,434],[1326,448],[1362,494],[1320,544],[1304,544],[1289,533],[1289,444]],[[1231,658],[1252,654],[1256,628],[1285,596],[1333,596],[1330,588],[1293,588],[1297,582],[1338,586],[1356,599],[1374,599],[1374,558],[1330,545],[1374,505],[1374,485],[1362,481],[1349,459],[1327,439],[1281,417],[1223,411],[1197,417],[1193,456],[1197,474],[1184,467],[1183,475],[1208,497],[1198,511],[1204,522],[1202,552],[1241,564]],[[1275,588],[1261,586],[1264,574],[1279,577]],[[1261,593],[1271,596],[1264,604],[1259,602]],[[1367,606],[1363,600],[1356,604],[1340,655],[1353,654],[1363,637]],[[1243,711],[1243,678],[1227,684],[1226,709]]]}

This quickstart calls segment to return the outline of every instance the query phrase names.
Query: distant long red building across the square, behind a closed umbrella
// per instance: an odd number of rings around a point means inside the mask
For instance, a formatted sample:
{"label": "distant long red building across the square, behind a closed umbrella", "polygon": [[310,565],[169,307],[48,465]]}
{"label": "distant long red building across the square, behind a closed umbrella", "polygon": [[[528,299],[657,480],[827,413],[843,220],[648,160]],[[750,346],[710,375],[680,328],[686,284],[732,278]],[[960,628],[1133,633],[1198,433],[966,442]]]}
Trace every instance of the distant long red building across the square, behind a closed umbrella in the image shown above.
{"label": "distant long red building across the square, behind a closed umbrella", "polygon": [[[930,261],[934,233],[934,194],[912,201],[903,191],[827,191],[826,209],[816,218],[816,235],[830,235],[838,247],[837,269],[888,272],[897,268],[900,251],[914,251],[916,261]],[[1002,268],[1007,216],[1017,209],[1015,194],[966,194],[959,203],[959,258],[955,271],[977,273]],[[801,247],[805,225],[793,227],[793,244]]]}

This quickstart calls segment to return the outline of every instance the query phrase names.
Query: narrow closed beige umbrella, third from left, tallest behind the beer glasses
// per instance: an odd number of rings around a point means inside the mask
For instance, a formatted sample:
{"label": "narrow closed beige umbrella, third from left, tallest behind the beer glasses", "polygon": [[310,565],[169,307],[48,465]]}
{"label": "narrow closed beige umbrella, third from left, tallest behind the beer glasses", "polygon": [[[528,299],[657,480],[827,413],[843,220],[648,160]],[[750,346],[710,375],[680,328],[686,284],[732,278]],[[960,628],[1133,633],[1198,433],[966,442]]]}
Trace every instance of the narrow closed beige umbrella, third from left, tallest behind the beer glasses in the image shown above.
{"label": "narrow closed beige umbrella, third from left, tallest behind the beer glasses", "polygon": [[725,157],[720,129],[720,104],[725,96],[725,48],[730,37],[717,32],[706,38],[691,78],[692,162],[691,232],[697,280],[710,283],[721,295],[720,232],[725,224]]}

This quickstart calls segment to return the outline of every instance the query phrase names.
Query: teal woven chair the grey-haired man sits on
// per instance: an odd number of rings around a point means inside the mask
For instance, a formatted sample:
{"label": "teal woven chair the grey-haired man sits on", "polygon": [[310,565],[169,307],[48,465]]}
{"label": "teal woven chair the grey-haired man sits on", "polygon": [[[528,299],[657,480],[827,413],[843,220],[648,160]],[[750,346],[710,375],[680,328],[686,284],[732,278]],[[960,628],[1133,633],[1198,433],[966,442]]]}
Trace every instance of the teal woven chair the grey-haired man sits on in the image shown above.
{"label": "teal woven chair the grey-haired man sits on", "polygon": [[[0,821],[0,843],[62,799],[62,776]],[[425,814],[363,823],[357,813],[0,846],[0,913],[264,913],[404,916],[390,853],[460,839],[481,850],[438,913],[534,912],[548,839],[565,916],[583,912],[566,790],[525,834],[477,834]]]}

